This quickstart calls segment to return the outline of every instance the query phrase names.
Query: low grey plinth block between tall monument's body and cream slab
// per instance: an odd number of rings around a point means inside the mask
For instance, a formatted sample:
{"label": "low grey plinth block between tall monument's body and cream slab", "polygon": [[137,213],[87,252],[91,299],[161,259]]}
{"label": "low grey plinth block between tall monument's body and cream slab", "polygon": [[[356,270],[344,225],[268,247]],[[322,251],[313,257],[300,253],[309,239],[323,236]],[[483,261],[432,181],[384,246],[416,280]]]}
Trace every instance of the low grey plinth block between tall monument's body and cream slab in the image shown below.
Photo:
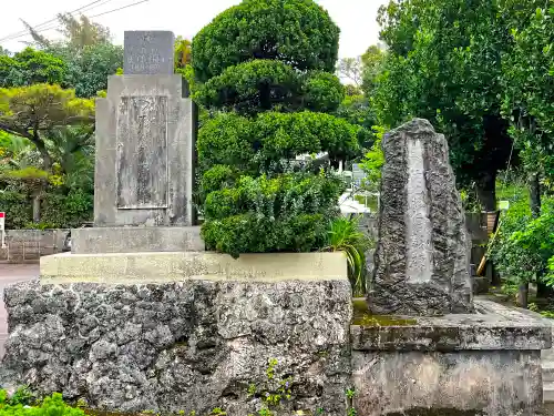
{"label": "low grey plinth block between tall monument's body and cream slab", "polygon": [[74,254],[203,252],[199,226],[114,226],[71,231]]}

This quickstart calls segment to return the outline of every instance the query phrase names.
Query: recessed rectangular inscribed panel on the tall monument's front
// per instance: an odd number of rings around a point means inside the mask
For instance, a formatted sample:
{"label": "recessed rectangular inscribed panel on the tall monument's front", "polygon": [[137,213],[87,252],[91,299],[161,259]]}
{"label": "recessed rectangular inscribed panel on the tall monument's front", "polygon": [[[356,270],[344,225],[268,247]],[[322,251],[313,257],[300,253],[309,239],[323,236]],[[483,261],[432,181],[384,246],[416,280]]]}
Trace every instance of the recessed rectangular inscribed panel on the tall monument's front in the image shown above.
{"label": "recessed rectangular inscribed panel on the tall monument's front", "polygon": [[167,207],[167,98],[122,97],[116,135],[117,207]]}

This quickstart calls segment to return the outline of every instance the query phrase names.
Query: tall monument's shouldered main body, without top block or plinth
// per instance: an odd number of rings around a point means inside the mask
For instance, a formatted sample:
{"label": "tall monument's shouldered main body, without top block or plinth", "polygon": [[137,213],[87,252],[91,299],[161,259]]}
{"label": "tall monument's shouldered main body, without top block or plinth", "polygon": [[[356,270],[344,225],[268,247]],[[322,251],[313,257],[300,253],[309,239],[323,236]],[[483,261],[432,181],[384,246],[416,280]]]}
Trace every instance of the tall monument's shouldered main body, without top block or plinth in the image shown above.
{"label": "tall monument's shouldered main body, without top block or plinth", "polygon": [[184,83],[178,74],[109,78],[96,100],[95,226],[194,224],[197,112]]}

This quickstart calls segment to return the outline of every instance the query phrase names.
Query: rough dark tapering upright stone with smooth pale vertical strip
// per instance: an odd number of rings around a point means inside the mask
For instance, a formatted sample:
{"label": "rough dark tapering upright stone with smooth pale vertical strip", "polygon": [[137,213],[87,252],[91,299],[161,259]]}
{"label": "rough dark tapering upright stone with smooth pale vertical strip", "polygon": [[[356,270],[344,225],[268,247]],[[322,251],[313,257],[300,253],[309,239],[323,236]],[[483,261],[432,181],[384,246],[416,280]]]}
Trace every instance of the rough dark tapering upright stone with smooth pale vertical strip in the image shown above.
{"label": "rough dark tapering upright stone with smooth pale vertical strip", "polygon": [[472,311],[470,244],[447,140],[427,120],[388,133],[379,242],[368,300],[376,314]]}

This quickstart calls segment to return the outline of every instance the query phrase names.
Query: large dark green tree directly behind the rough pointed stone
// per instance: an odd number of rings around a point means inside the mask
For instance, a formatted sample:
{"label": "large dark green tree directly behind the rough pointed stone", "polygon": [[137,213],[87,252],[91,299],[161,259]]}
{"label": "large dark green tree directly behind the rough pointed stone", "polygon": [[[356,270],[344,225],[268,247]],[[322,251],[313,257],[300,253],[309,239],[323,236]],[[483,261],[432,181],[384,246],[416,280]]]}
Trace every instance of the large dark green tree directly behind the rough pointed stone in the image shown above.
{"label": "large dark green tree directly behind the rough pointed stone", "polygon": [[379,124],[420,116],[445,134],[456,179],[476,182],[490,211],[495,175],[512,144],[500,113],[501,59],[510,38],[497,3],[390,1],[379,17],[389,50],[367,85]]}

